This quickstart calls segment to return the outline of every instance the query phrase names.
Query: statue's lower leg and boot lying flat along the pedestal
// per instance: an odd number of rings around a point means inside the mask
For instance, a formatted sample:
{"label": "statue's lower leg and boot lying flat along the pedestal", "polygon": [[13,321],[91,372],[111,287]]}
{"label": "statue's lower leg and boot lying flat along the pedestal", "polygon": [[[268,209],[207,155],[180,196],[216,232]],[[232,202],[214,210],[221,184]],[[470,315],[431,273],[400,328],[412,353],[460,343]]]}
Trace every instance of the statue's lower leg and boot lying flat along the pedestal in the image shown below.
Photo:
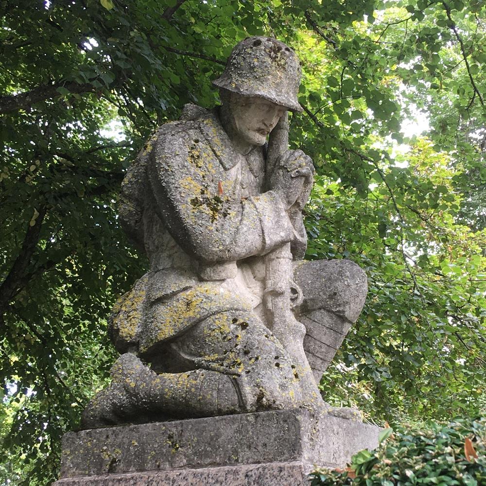
{"label": "statue's lower leg and boot lying flat along the pedestal", "polygon": [[216,371],[157,374],[138,357],[126,353],[118,358],[110,374],[111,384],[84,410],[82,429],[245,411],[235,379]]}

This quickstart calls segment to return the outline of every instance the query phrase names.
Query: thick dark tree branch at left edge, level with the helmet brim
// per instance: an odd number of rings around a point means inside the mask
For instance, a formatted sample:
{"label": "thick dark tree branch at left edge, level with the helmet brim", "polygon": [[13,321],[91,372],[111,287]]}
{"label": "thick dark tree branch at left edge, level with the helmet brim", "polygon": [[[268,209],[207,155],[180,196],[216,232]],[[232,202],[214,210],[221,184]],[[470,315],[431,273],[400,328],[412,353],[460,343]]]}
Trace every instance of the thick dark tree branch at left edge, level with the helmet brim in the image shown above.
{"label": "thick dark tree branch at left edge, level with the helmet brim", "polygon": [[57,91],[57,88],[59,87],[64,87],[71,93],[87,93],[95,91],[95,87],[92,84],[79,84],[75,81],[58,81],[52,85],[38,86],[30,91],[25,91],[24,93],[0,97],[0,115],[10,113],[11,111],[21,110],[40,101],[61,96]]}

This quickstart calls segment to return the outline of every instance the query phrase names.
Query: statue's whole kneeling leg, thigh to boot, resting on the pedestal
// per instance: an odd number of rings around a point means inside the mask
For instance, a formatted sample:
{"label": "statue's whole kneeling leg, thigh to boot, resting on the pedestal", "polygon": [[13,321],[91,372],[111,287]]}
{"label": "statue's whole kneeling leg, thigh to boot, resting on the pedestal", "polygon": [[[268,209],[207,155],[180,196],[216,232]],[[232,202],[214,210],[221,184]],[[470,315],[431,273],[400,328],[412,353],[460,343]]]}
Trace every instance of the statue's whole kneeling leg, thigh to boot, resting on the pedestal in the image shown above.
{"label": "statue's whole kneeling leg, thigh to boot, resting on the pedestal", "polygon": [[171,373],[163,372],[163,359],[156,373],[136,356],[122,355],[111,385],[83,413],[82,427],[295,408],[302,402],[295,365],[252,314],[209,316],[167,343],[167,353]]}

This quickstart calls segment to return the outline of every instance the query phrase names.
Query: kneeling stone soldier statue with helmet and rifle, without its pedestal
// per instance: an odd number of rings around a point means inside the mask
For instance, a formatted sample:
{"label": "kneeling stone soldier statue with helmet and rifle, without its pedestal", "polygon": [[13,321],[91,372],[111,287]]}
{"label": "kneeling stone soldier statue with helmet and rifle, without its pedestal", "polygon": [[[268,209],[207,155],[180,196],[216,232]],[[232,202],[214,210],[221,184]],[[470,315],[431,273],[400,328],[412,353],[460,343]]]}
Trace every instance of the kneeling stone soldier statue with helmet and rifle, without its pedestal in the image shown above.
{"label": "kneeling stone soldier statue with helmet and rifle, without its pedestal", "polygon": [[[238,43],[222,106],[186,105],[122,185],[120,220],[150,270],[117,302],[121,353],[82,428],[307,408],[364,305],[363,270],[303,261],[312,160],[288,150],[301,70],[282,42]],[[268,138],[268,142],[267,142]],[[347,416],[352,416],[347,414]]]}

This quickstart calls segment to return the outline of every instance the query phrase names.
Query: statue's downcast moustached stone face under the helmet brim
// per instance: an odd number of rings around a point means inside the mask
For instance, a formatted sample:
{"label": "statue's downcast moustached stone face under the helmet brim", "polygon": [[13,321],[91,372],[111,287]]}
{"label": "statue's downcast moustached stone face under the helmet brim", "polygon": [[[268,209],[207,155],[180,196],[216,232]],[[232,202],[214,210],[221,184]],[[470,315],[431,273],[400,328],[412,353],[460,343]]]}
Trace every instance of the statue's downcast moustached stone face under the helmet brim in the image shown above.
{"label": "statue's downcast moustached stone face under the helmet brim", "polygon": [[286,108],[258,96],[238,96],[232,104],[238,134],[251,145],[263,145]]}

